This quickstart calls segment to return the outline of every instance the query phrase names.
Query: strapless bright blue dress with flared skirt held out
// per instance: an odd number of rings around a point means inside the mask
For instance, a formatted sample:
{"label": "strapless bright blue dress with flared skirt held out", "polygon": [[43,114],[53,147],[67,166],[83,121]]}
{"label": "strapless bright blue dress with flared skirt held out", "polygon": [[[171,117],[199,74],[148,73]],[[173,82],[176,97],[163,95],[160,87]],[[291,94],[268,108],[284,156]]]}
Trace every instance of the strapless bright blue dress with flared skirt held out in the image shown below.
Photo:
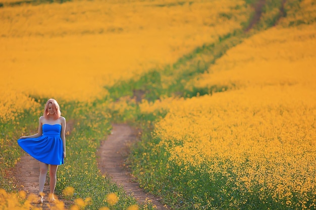
{"label": "strapless bright blue dress with flared skirt held out", "polygon": [[36,160],[50,165],[64,164],[62,125],[43,124],[43,134],[37,138],[20,138],[19,146]]}

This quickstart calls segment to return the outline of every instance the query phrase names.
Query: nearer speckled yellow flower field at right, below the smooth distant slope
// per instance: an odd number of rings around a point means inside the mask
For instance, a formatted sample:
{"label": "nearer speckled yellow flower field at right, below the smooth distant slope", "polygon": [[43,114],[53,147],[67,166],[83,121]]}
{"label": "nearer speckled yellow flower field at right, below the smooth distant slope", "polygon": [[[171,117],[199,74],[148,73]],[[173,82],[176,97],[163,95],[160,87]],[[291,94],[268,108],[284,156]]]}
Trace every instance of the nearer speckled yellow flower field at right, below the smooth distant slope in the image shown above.
{"label": "nearer speckled yellow flower field at right, below the smooth distant slope", "polygon": [[155,126],[157,150],[166,148],[189,177],[224,173],[238,177],[229,180],[238,190],[269,191],[277,200],[298,193],[307,201],[316,192],[315,98],[308,89],[278,86],[180,100]]}

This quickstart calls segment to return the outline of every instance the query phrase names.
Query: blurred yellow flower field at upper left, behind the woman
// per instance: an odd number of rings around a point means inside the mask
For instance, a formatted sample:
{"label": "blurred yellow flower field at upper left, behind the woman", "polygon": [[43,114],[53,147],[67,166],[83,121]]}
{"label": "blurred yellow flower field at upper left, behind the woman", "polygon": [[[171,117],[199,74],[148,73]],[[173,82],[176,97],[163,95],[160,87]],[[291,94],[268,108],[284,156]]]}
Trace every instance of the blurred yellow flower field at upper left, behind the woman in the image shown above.
{"label": "blurred yellow flower field at upper left, behind the woman", "polygon": [[[244,9],[231,9],[238,5]],[[250,12],[232,0],[74,1],[1,10],[0,91],[79,101],[101,97],[104,86],[137,78],[240,28]],[[0,95],[0,106],[13,110],[1,109],[0,116],[21,109],[3,104],[4,98],[15,99]]]}

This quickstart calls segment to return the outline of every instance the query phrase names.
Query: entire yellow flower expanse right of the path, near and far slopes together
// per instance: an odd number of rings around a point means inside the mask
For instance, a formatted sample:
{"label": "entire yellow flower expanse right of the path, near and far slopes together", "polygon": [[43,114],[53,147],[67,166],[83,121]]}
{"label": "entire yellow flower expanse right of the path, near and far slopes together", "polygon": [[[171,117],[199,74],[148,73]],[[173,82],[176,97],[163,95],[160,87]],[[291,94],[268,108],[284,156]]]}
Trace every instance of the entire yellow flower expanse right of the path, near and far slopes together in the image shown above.
{"label": "entire yellow flower expanse right of the path, near and far slopes together", "polygon": [[170,154],[176,179],[198,194],[192,202],[220,199],[214,187],[231,207],[251,203],[251,195],[290,209],[316,207],[316,25],[282,25],[231,48],[187,84],[209,95],[140,105],[143,113],[168,110],[155,124],[152,153]]}

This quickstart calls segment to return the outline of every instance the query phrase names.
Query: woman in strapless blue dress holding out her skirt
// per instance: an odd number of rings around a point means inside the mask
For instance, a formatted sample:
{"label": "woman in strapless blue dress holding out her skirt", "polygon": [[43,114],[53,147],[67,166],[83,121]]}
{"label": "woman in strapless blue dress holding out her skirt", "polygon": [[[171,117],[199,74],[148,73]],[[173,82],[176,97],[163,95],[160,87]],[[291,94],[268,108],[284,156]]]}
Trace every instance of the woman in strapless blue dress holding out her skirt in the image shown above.
{"label": "woman in strapless blue dress holding out her skirt", "polygon": [[61,116],[60,106],[55,99],[46,102],[44,114],[39,117],[38,132],[21,136],[19,146],[39,161],[38,203],[43,202],[43,189],[49,166],[49,202],[55,202],[54,191],[57,181],[57,168],[64,164],[66,157],[66,119]]}

